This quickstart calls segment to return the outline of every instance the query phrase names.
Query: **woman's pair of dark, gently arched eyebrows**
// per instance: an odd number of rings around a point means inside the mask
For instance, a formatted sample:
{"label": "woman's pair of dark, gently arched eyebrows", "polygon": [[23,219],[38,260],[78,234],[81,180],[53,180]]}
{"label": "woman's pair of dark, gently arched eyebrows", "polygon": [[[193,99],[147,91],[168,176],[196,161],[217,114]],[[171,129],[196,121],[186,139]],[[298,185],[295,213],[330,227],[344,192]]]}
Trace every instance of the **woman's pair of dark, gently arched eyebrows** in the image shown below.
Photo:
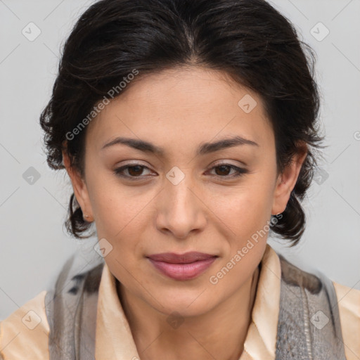
{"label": "woman's pair of dark, gently arched eyebrows", "polygon": [[[101,148],[101,150],[117,144],[126,145],[136,150],[143,151],[144,153],[153,153],[161,156],[165,154],[164,148],[161,148],[160,146],[155,146],[153,143],[139,139],[124,138],[121,136],[115,138],[114,140],[108,143],[105,143],[105,145]],[[259,144],[256,143],[255,141],[245,139],[241,136],[233,136],[231,138],[221,139],[219,141],[212,143],[201,143],[200,146],[198,147],[197,155],[214,153],[215,151],[223,150],[225,148],[231,148],[233,146],[240,146],[240,145],[259,146]]]}

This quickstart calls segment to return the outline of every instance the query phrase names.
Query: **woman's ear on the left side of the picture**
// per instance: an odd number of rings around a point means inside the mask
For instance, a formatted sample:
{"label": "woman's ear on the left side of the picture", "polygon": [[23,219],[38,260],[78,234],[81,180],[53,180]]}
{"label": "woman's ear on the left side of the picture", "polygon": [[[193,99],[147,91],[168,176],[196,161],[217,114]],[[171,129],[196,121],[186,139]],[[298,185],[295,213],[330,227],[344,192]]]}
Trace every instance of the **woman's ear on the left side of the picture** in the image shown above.
{"label": "woman's ear on the left side of the picture", "polygon": [[[70,166],[70,158],[65,150],[63,150],[63,163],[70,177],[76,200],[82,208],[84,220],[88,222],[94,221],[94,215],[91,210],[91,203],[86,183],[84,179],[82,179],[82,176],[79,174],[78,170],[75,169],[75,167]],[[85,217],[85,215],[87,215],[87,217]]]}

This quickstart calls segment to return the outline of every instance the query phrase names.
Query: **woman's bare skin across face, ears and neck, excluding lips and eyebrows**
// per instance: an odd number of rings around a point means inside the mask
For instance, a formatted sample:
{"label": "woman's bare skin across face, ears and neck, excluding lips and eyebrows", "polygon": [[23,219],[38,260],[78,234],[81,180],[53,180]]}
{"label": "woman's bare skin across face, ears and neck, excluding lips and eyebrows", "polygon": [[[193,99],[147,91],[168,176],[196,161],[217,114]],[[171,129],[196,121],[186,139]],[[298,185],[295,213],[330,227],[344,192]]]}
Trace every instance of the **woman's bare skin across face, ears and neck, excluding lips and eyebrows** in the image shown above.
{"label": "woman's bare skin across face, ears and neck, excluding lips and eyebrows", "polygon": [[[85,179],[63,153],[76,198],[86,219],[96,222],[98,238],[113,246],[105,262],[120,281],[118,295],[141,359],[236,360],[267,234],[216,285],[209,279],[269,224],[271,214],[285,210],[306,148],[278,174],[261,98],[224,72],[174,68],[128,86],[86,129]],[[238,105],[246,94],[257,102],[250,113]],[[258,146],[195,153],[201,143],[236,135]],[[165,154],[121,144],[101,150],[116,136],[150,141]],[[221,162],[248,173],[233,177],[236,170],[219,168]],[[145,168],[122,171],[133,181],[113,173],[134,163]],[[166,176],[174,166],[185,176],[176,185]],[[193,250],[218,258],[187,281],[168,278],[146,258]],[[178,328],[167,321],[174,311],[184,320]]]}

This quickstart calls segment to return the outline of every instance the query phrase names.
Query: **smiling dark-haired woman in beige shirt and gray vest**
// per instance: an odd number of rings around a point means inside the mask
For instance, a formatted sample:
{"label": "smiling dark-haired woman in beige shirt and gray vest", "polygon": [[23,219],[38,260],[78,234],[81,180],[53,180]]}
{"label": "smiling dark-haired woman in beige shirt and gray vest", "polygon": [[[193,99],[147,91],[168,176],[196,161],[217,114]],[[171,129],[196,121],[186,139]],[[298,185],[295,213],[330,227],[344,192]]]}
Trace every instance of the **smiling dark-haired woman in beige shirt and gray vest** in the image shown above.
{"label": "smiling dark-haired woman in beige shirt and gray vest", "polygon": [[304,231],[313,66],[262,0],[92,5],[41,127],[97,258],[1,323],[2,358],[359,359],[360,291],[266,243]]}

